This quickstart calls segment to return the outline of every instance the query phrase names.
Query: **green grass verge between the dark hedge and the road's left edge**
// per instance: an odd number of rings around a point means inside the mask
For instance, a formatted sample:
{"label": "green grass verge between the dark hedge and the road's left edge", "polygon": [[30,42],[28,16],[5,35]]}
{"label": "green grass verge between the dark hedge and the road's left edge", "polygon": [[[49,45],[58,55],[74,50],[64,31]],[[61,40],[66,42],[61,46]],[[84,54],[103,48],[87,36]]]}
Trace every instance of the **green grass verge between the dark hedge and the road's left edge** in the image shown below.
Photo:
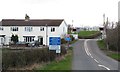
{"label": "green grass verge between the dark hedge and the road's left edge", "polygon": [[45,64],[37,70],[71,70],[72,66],[72,47],[68,50],[68,53],[60,61],[53,61],[49,64]]}

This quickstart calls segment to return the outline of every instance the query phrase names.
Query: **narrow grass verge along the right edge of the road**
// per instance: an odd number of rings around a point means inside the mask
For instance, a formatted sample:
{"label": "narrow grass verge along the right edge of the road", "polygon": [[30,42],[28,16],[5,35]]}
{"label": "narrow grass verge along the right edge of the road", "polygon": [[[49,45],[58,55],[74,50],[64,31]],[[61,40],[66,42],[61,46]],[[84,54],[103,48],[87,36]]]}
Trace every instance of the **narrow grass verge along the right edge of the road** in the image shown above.
{"label": "narrow grass verge along the right edge of the road", "polygon": [[98,44],[99,48],[100,48],[101,50],[103,50],[104,53],[105,53],[107,56],[109,56],[109,57],[111,57],[111,58],[113,58],[113,59],[115,59],[115,60],[117,60],[117,61],[120,61],[120,53],[115,52],[115,51],[107,50],[104,40],[98,40],[98,41],[97,41],[97,44]]}

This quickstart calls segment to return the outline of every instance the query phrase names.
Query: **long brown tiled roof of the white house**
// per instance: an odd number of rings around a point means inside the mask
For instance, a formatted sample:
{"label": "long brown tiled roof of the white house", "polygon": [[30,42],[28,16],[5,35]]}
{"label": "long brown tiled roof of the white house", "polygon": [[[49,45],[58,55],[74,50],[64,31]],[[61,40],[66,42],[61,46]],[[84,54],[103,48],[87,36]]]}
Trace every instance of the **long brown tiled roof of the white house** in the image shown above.
{"label": "long brown tiled roof of the white house", "polygon": [[3,19],[2,26],[59,26],[63,19],[38,19],[28,20],[24,19]]}

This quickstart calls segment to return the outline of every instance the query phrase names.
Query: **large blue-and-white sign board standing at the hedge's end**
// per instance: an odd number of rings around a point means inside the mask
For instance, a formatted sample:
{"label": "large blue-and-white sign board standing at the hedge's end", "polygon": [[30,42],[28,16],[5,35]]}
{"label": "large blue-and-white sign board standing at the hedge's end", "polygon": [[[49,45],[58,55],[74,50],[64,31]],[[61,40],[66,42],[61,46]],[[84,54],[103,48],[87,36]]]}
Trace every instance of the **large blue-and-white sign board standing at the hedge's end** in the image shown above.
{"label": "large blue-and-white sign board standing at the hedge's end", "polygon": [[56,53],[61,53],[61,38],[49,37],[49,50],[56,50]]}

